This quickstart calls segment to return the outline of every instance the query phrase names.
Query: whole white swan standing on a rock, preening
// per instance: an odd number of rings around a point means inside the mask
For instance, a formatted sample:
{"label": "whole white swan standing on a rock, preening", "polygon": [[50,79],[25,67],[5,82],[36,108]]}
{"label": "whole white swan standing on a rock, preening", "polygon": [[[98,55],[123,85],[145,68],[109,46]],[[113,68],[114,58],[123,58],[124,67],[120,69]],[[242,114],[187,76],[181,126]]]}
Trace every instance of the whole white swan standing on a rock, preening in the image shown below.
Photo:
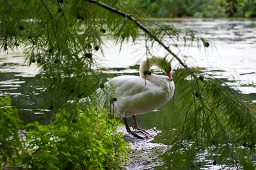
{"label": "whole white swan standing on a rock, preening", "polygon": [[[158,66],[168,76],[151,73],[151,66]],[[104,105],[110,104],[111,112],[124,119],[127,132],[138,138],[151,136],[147,131],[138,127],[136,114],[150,112],[168,102],[175,89],[172,81],[170,61],[166,58],[150,58],[140,65],[140,77],[121,75],[110,79],[104,88],[98,89],[97,94]],[[134,121],[134,131],[129,128],[127,118]]]}

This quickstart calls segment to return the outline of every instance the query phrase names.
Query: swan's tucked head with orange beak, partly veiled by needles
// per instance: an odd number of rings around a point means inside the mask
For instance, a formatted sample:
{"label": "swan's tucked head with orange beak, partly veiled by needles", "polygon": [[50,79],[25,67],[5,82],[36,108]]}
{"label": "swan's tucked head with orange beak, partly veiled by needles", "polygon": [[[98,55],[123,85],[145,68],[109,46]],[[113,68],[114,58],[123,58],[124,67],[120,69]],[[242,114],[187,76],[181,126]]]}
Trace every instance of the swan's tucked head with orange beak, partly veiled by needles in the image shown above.
{"label": "swan's tucked head with orange beak, partly veiled by needles", "polygon": [[170,81],[172,81],[172,73],[171,73],[172,72],[172,65],[171,65],[171,61],[167,61],[166,57],[165,58],[155,58],[154,59],[154,63],[156,64],[156,66],[158,66],[159,68],[164,70],[164,72],[166,72],[166,74],[168,75]]}

